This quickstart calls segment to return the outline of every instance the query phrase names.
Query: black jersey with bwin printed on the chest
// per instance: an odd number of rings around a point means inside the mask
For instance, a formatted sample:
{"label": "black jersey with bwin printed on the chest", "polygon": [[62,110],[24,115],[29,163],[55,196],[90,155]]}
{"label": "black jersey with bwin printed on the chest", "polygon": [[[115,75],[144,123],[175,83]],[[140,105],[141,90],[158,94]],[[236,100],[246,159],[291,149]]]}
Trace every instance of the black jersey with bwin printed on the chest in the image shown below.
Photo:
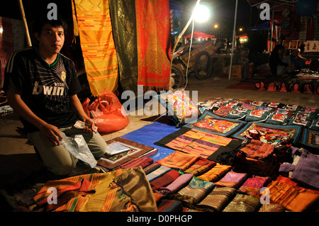
{"label": "black jersey with bwin printed on the chest", "polygon": [[[29,47],[11,55],[5,69],[4,91],[11,89],[35,115],[46,123],[63,128],[74,125],[77,113],[69,103],[69,96],[81,91],[74,63],[58,53],[51,65]],[[26,132],[38,130],[21,118]]]}

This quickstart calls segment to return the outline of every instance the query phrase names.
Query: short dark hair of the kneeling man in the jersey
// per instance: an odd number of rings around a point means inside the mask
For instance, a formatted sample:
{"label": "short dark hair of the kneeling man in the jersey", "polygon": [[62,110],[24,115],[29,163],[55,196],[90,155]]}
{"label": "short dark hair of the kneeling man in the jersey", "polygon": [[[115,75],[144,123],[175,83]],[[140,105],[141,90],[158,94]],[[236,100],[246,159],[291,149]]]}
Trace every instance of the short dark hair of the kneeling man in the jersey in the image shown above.
{"label": "short dark hair of the kneeling man in the jersey", "polygon": [[65,34],[67,33],[67,23],[62,18],[62,16],[57,15],[57,20],[49,20],[47,18],[47,14],[40,13],[40,15],[35,19],[34,23],[34,32],[40,35],[43,26],[49,23],[52,27],[58,28],[62,27],[64,29]]}

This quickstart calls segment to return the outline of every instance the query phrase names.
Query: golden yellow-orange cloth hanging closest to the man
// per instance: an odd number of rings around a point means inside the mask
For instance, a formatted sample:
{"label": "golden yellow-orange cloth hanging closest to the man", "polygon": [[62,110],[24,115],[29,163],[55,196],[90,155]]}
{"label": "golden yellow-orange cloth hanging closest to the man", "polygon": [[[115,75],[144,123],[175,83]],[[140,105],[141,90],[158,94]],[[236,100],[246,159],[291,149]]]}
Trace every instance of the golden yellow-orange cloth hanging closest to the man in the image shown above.
{"label": "golden yellow-orange cloth hanging closest to the man", "polygon": [[74,35],[79,35],[91,94],[118,88],[118,61],[107,0],[73,0]]}

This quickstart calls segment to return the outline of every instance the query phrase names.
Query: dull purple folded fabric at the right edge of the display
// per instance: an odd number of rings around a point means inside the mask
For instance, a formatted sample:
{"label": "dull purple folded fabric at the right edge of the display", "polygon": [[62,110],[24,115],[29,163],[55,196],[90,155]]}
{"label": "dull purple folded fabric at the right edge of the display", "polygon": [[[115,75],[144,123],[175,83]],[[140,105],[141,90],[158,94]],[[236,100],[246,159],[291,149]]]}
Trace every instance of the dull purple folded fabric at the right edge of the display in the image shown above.
{"label": "dull purple folded fabric at the right edge of the display", "polygon": [[301,149],[301,157],[293,171],[292,177],[298,181],[319,188],[319,156]]}

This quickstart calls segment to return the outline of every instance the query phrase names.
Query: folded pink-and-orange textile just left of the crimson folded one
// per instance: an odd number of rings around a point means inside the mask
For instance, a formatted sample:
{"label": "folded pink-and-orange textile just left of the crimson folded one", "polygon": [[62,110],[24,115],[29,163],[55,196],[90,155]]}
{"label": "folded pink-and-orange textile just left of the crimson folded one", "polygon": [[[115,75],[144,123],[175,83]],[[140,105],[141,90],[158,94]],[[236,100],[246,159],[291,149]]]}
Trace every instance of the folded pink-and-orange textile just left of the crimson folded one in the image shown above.
{"label": "folded pink-and-orange textile just left of the crimson folded one", "polygon": [[215,182],[216,186],[238,188],[247,179],[248,174],[229,171],[223,178]]}

